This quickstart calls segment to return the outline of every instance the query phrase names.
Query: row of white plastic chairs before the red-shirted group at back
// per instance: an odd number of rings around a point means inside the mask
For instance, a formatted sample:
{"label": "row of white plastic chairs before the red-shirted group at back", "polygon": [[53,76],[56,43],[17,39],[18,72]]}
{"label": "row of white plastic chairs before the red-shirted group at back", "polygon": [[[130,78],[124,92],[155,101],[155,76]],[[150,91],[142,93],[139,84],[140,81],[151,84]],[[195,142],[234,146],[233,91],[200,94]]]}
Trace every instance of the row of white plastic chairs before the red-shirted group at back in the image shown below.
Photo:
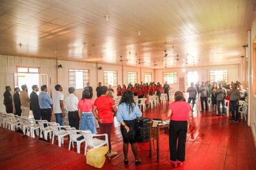
{"label": "row of white plastic chairs before the red-shirted group at back", "polygon": [[[114,98],[115,104],[118,105],[119,102],[121,101],[122,96],[116,96]],[[160,96],[160,101],[161,103],[165,104],[166,103],[166,98],[167,98],[167,94],[161,94]],[[139,105],[139,107],[143,108],[143,112],[146,110],[146,100],[147,98],[141,98],[139,99],[138,96],[134,96],[134,101],[137,105]],[[153,108],[154,106],[157,106],[159,104],[159,96],[157,95],[153,95],[150,96],[150,102],[149,102],[149,107]]]}

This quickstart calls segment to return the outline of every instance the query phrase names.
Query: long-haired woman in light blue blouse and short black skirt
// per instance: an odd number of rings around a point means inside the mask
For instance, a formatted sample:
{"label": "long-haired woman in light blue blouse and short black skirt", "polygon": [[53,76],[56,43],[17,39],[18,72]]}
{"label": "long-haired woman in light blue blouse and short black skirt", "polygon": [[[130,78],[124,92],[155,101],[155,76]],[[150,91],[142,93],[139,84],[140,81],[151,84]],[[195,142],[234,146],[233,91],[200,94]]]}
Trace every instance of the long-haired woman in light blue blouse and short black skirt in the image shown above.
{"label": "long-haired woman in light blue blouse and short black skirt", "polygon": [[128,164],[128,146],[132,146],[132,152],[135,157],[135,164],[140,164],[136,145],[136,118],[141,117],[142,113],[139,106],[133,100],[133,94],[130,91],[124,92],[117,110],[117,121],[121,123],[121,133],[123,136],[124,164]]}

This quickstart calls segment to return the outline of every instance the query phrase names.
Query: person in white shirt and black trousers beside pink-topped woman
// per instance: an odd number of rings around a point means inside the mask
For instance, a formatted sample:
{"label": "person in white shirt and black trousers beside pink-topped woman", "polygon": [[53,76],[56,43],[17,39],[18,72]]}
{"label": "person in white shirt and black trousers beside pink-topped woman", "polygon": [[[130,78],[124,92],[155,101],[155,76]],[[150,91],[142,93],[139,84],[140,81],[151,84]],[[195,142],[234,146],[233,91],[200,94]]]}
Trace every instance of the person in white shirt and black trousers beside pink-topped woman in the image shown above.
{"label": "person in white shirt and black trousers beside pink-topped woman", "polygon": [[77,112],[78,98],[75,96],[75,88],[68,88],[68,96],[64,99],[64,108],[68,110],[68,121],[71,127],[79,130],[79,115]]}

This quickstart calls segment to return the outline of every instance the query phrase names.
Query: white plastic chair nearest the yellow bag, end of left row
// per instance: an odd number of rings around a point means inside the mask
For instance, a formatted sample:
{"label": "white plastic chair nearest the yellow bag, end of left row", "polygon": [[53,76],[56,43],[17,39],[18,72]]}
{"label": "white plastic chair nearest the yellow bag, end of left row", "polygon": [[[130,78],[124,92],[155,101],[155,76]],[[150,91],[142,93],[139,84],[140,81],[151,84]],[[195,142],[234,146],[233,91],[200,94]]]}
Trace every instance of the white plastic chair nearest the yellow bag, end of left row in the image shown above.
{"label": "white plastic chair nearest the yellow bag, end of left row", "polygon": [[[108,134],[92,134],[90,130],[81,130],[82,135],[85,139],[84,155],[86,155],[87,147],[100,148],[101,146],[108,146]],[[97,139],[95,137],[105,137],[105,140]],[[110,158],[110,150],[108,146],[108,158]]]}

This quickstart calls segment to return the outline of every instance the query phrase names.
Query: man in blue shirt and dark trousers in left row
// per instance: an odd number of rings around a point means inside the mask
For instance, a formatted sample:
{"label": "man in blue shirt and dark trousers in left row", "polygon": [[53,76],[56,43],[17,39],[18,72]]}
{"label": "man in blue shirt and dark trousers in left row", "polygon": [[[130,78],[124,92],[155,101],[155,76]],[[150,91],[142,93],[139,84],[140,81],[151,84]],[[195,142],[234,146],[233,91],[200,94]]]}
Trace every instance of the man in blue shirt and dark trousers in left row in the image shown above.
{"label": "man in blue shirt and dark trousers in left row", "polygon": [[42,120],[50,122],[52,117],[52,99],[47,93],[48,88],[46,85],[42,85],[41,90],[42,92],[38,96],[38,101],[41,109]]}

